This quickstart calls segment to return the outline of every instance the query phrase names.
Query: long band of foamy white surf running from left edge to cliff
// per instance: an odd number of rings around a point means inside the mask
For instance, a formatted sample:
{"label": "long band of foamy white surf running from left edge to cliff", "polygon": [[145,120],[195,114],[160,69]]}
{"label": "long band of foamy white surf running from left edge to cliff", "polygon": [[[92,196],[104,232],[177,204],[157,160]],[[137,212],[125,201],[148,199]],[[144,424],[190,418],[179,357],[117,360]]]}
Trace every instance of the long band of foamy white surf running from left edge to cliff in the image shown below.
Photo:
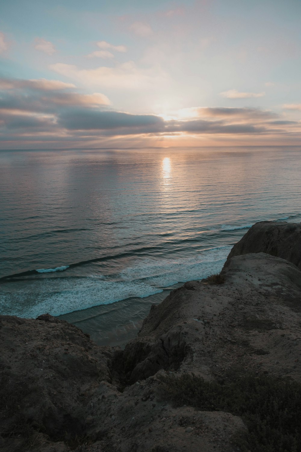
{"label": "long band of foamy white surf running from left edge to cliff", "polygon": [[45,312],[62,315],[127,298],[144,298],[177,282],[198,280],[217,273],[231,246],[177,259],[139,259],[110,277],[86,276],[10,280],[0,294],[0,312],[34,318]]}

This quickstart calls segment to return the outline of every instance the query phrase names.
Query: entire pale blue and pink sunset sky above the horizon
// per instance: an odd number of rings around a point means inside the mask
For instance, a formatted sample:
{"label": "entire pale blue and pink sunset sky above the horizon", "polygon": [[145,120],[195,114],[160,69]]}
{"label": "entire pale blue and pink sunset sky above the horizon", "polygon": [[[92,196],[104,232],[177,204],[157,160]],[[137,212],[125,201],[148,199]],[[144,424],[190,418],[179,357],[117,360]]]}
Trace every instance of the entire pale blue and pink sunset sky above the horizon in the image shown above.
{"label": "entire pale blue and pink sunset sky above the horizon", "polygon": [[0,149],[300,144],[300,0],[1,2]]}

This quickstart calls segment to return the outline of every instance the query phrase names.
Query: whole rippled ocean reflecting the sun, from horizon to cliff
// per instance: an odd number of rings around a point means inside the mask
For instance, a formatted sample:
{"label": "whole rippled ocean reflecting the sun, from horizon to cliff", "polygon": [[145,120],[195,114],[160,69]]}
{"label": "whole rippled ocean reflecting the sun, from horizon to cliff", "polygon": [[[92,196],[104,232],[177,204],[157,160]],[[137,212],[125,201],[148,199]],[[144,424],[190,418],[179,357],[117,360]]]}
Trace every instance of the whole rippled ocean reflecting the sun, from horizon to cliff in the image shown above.
{"label": "whole rippled ocean reflecting the sun, from horizon to cliff", "polygon": [[300,174],[300,147],[0,151],[0,313],[121,343],[256,221],[300,222]]}

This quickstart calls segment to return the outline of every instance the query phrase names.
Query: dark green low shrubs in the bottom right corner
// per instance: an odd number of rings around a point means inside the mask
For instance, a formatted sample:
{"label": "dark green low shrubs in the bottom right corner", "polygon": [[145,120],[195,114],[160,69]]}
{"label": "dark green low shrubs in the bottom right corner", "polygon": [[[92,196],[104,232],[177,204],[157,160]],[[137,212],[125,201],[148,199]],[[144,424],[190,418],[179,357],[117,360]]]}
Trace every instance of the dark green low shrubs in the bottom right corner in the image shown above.
{"label": "dark green low shrubs in the bottom right corner", "polygon": [[246,376],[205,381],[193,374],[162,377],[162,396],[174,405],[240,416],[248,427],[234,443],[243,452],[301,451],[301,384],[290,379]]}

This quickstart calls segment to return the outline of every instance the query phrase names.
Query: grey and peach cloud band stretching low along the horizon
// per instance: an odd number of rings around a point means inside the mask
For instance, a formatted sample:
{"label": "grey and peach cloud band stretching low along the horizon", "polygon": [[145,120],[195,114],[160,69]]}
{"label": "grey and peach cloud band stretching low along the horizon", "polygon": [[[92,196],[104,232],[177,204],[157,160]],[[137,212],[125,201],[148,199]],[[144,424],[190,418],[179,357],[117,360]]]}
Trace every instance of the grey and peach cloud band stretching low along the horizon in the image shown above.
{"label": "grey and peach cloud band stretching low along the horizon", "polygon": [[[299,121],[259,108],[192,107],[178,119],[112,110],[102,93],[82,94],[72,83],[0,79],[0,140],[66,146],[108,137],[298,137]],[[288,105],[287,108],[292,108]],[[299,104],[294,104],[294,109]]]}

